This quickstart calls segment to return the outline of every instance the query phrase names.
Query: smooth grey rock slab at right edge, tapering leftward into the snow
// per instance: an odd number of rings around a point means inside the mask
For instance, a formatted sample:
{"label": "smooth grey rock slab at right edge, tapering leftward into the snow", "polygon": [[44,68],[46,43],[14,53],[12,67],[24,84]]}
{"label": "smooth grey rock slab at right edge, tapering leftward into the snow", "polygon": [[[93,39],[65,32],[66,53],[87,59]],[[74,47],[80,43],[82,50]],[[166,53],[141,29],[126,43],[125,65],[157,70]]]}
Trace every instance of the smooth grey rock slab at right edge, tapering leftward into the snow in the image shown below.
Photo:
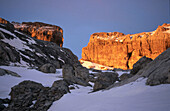
{"label": "smooth grey rock slab at right edge, tapering leftward into the snow", "polygon": [[149,62],[144,68],[140,69],[132,77],[115,83],[108,87],[118,87],[130,82],[134,82],[139,78],[147,78],[146,85],[154,86],[160,84],[170,84],[170,48],[160,54],[153,61]]}

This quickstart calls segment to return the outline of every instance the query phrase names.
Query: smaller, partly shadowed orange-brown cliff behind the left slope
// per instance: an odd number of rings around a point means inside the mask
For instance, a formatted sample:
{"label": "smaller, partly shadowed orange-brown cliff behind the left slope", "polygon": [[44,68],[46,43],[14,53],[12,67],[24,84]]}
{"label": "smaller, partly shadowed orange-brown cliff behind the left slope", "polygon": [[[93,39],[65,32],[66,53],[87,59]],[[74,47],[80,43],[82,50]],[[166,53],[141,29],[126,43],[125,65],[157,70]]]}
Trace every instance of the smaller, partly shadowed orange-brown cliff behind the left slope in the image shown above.
{"label": "smaller, partly shadowed orange-brown cliff behind the left slope", "polygon": [[51,41],[62,47],[63,30],[59,26],[45,24],[41,22],[23,22],[22,24],[13,22],[14,27],[39,40]]}

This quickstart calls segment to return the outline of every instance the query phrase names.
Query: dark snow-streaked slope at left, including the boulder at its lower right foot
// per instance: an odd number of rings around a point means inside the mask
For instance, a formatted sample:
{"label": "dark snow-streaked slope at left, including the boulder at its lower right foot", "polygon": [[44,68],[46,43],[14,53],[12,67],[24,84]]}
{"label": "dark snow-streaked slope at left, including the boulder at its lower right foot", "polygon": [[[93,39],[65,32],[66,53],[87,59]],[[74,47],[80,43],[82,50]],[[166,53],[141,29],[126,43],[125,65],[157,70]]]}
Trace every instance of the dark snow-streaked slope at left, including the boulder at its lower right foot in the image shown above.
{"label": "dark snow-streaked slope at left, including the boulder at its lower right foot", "polygon": [[0,65],[35,68],[45,73],[55,73],[56,69],[63,68],[64,79],[89,85],[88,70],[81,66],[71,50],[25,35],[8,21],[3,21],[0,23]]}

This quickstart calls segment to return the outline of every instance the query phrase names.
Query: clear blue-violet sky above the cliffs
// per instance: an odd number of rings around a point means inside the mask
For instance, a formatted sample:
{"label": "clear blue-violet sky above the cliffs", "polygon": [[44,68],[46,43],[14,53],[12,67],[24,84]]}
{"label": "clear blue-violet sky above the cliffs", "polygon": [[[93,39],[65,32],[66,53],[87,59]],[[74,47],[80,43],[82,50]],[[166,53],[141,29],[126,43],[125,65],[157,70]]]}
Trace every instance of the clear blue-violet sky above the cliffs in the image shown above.
{"label": "clear blue-violet sky above the cliffs", "polygon": [[60,26],[63,47],[81,59],[95,32],[135,34],[170,23],[170,0],[0,0],[0,17]]}

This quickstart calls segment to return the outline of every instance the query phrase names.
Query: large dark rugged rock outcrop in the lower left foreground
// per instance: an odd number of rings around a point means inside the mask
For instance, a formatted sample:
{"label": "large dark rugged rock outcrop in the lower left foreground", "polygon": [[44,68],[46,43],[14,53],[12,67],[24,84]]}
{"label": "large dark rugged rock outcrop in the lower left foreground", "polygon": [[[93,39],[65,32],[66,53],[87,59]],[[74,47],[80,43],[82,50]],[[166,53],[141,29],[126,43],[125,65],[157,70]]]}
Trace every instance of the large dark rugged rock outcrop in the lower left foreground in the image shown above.
{"label": "large dark rugged rock outcrop in the lower left foreground", "polygon": [[4,111],[47,111],[52,103],[69,92],[65,81],[55,81],[44,87],[33,81],[23,81],[12,87],[11,102]]}

